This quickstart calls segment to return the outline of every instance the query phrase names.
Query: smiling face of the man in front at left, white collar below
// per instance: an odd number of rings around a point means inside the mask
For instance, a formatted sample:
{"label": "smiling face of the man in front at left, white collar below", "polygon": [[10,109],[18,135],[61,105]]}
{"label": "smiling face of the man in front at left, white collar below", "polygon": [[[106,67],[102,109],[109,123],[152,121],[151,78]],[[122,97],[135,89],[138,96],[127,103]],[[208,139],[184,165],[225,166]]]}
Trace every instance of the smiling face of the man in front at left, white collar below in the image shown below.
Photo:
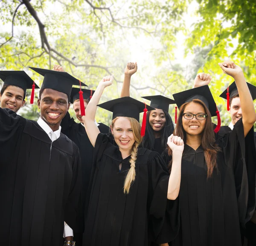
{"label": "smiling face of the man in front at left, white collar below", "polygon": [[41,118],[52,128],[58,130],[61,120],[69,110],[67,94],[52,89],[44,89],[41,100],[38,99],[38,108],[41,111]]}

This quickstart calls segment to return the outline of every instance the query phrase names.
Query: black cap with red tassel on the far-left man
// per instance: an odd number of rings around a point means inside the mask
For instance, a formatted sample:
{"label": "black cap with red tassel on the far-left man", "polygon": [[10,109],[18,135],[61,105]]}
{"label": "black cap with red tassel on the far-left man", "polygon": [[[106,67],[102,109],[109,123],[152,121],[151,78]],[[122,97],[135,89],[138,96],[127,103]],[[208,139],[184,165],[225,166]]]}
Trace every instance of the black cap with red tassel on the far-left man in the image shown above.
{"label": "black cap with red tassel on the far-left man", "polygon": [[[24,71],[0,71],[0,79],[3,80],[3,85],[15,85],[24,90],[32,89],[30,103],[34,102],[35,88],[39,88],[35,81],[29,77]],[[25,98],[24,98],[25,99]]]}

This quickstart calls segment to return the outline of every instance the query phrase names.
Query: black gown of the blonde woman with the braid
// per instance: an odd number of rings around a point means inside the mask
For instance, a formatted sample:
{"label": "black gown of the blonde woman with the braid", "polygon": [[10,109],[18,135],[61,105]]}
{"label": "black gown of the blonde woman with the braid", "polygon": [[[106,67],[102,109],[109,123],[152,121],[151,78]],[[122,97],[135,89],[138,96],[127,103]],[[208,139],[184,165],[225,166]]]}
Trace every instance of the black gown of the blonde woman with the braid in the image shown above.
{"label": "black gown of the blonde woman with the braid", "polygon": [[123,186],[130,156],[122,159],[119,148],[109,142],[107,135],[99,133],[93,157],[84,246],[146,246],[151,240],[161,242],[166,206],[171,215],[167,237],[176,236],[178,200],[167,200],[169,176],[158,153],[138,150],[136,178],[129,194],[124,194]]}

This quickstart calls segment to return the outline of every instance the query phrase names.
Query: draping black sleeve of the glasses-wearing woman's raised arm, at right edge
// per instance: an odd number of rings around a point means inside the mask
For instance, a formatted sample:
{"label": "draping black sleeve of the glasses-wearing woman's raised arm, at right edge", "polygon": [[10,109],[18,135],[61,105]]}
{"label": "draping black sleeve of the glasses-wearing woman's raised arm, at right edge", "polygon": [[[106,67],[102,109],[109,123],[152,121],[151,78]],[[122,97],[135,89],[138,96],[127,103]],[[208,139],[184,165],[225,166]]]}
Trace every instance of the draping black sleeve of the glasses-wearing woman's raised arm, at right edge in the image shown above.
{"label": "draping black sleeve of the glasses-wearing woman's raised arm, at right edge", "polygon": [[242,119],[222,140],[226,165],[233,168],[239,220],[242,226],[250,220],[255,208],[255,157],[253,127],[244,138]]}

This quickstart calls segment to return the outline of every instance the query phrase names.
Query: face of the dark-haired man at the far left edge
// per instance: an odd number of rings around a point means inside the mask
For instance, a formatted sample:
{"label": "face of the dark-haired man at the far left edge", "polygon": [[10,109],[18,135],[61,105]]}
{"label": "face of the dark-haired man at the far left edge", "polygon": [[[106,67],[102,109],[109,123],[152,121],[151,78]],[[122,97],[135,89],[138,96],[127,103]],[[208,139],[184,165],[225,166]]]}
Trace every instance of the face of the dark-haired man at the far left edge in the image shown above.
{"label": "face of the dark-haired man at the far left edge", "polygon": [[9,85],[6,90],[3,92],[3,95],[0,95],[0,107],[9,108],[15,113],[25,104],[23,100],[24,90],[20,87]]}

